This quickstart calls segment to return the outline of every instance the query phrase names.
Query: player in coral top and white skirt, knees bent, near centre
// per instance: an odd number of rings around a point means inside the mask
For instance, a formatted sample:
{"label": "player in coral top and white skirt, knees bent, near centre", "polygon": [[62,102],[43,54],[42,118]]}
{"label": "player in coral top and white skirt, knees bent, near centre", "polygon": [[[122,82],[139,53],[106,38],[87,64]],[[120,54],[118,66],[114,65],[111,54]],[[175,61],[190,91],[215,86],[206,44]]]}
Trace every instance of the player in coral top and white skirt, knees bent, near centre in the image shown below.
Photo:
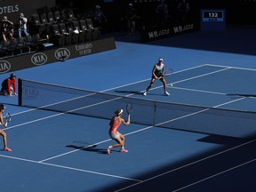
{"label": "player in coral top and white skirt, knees bent, near centre", "polygon": [[118,127],[120,126],[120,124],[124,124],[125,126],[127,126],[128,124],[130,124],[130,116],[128,115],[128,120],[125,121],[121,116],[123,114],[124,110],[123,109],[117,109],[115,111],[116,116],[113,116],[109,125],[109,131],[108,134],[110,136],[110,138],[112,140],[116,140],[116,144],[112,145],[112,146],[108,146],[108,154],[111,153],[111,148],[117,148],[117,147],[121,147],[120,148],[120,152],[122,153],[127,153],[128,150],[126,150],[124,148],[124,135],[121,134],[120,132],[117,132]]}

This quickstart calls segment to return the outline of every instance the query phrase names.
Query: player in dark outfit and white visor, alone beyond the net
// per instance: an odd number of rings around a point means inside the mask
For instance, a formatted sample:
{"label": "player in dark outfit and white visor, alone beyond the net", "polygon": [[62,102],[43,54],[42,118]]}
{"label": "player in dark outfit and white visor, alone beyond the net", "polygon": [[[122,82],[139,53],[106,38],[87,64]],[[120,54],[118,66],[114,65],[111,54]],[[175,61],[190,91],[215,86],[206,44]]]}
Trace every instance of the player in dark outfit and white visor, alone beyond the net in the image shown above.
{"label": "player in dark outfit and white visor, alone beyond the net", "polygon": [[163,58],[159,58],[158,62],[155,64],[154,68],[152,69],[152,76],[150,84],[148,85],[148,88],[145,92],[143,92],[143,95],[146,96],[149,89],[153,86],[156,79],[160,80],[164,84],[164,95],[168,96],[170,95],[169,92],[166,91],[166,81],[164,79],[164,63]]}

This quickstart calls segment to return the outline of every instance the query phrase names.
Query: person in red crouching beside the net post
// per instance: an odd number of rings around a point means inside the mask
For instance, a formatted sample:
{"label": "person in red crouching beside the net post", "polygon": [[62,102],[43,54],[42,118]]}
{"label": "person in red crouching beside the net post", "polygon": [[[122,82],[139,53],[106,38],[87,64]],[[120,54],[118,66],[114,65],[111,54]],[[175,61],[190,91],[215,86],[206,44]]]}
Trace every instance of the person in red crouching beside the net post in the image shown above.
{"label": "person in red crouching beside the net post", "polygon": [[12,73],[10,77],[4,79],[4,81],[2,83],[1,95],[12,96],[12,92],[14,95],[17,95],[17,93],[16,93],[16,76],[14,73]]}

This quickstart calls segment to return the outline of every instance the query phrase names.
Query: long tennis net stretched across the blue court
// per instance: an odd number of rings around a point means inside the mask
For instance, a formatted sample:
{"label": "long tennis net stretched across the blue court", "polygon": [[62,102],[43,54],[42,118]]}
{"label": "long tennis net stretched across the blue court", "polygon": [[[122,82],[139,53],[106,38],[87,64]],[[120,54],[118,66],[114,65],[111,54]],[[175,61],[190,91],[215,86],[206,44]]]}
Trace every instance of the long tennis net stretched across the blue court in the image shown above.
{"label": "long tennis net stretched across the blue court", "polygon": [[[245,138],[256,134],[256,113],[92,92],[19,79],[19,105],[67,114],[110,119],[132,103],[132,123]],[[124,118],[127,117],[124,114]]]}

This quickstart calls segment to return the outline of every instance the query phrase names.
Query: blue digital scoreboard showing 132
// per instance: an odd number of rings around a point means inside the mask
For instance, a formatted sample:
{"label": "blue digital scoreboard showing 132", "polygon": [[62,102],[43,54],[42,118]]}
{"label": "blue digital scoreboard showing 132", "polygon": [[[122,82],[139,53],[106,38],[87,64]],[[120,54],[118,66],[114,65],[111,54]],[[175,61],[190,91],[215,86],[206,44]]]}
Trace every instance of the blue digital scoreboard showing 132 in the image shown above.
{"label": "blue digital scoreboard showing 132", "polygon": [[201,30],[224,30],[226,10],[201,10]]}

